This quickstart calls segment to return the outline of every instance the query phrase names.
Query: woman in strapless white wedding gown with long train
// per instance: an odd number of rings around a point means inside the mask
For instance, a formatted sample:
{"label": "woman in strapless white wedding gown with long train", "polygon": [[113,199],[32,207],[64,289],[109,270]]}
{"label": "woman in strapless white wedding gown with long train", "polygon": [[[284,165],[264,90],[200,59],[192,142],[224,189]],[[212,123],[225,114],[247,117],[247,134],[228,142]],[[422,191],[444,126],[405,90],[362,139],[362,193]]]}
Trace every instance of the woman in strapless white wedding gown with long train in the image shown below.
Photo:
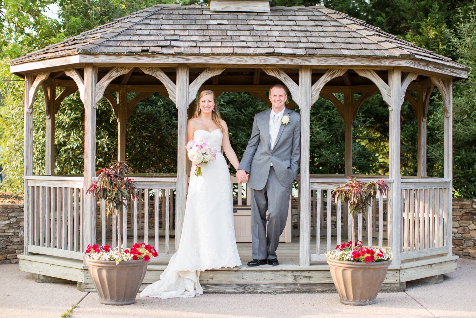
{"label": "woman in strapless white wedding gown with long train", "polygon": [[[192,164],[187,205],[178,251],[170,258],[160,280],[147,286],[141,297],[194,297],[203,294],[200,271],[240,266],[233,226],[233,198],[228,165],[238,169],[238,158],[231,148],[228,127],[220,119],[213,91],[198,95],[195,114],[187,124],[187,142],[204,139],[217,150],[217,159],[202,164],[202,175],[195,176]],[[185,147],[185,145],[182,145]]]}

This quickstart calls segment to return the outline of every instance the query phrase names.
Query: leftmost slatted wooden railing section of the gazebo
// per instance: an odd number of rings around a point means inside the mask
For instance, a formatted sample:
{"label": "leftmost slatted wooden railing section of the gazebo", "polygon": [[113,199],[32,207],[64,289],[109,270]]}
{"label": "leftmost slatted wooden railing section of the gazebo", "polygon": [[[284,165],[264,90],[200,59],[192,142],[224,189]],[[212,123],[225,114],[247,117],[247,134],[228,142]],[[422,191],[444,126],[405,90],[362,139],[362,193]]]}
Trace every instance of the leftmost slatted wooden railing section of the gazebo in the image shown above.
{"label": "leftmost slatted wooden railing section of the gazebo", "polygon": [[83,259],[83,177],[33,175],[25,179],[27,251]]}

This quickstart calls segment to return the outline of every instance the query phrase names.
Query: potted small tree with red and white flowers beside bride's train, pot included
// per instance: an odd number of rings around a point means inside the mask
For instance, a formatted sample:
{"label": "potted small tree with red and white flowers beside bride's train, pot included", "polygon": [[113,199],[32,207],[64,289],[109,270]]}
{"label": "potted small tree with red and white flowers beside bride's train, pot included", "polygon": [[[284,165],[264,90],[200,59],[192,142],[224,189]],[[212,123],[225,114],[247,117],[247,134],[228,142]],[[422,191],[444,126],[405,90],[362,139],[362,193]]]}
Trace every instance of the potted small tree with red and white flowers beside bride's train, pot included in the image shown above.
{"label": "potted small tree with red and white flowers beside bride's train, pot included", "polygon": [[[136,302],[136,296],[144,279],[151,256],[157,256],[154,247],[134,244],[130,250],[120,244],[120,217],[118,211],[127,207],[129,200],[135,200],[137,194],[134,182],[126,177],[130,172],[127,161],[114,161],[110,167],[99,169],[98,181],[93,182],[88,193],[96,200],[106,201],[108,214],[117,214],[118,247],[109,245],[86,248],[86,264],[89,275],[99,295],[101,304],[130,305]],[[114,239],[114,238],[113,238]]]}

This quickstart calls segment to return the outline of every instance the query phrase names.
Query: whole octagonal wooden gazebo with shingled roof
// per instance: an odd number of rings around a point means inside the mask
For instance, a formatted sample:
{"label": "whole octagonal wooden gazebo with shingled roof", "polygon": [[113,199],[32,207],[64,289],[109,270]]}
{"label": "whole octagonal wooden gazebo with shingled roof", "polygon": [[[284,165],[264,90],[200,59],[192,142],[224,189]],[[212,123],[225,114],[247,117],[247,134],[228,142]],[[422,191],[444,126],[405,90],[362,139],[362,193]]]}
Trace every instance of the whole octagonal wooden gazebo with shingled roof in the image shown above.
{"label": "whole octagonal wooden gazebo with shingled roof", "polygon": [[[456,271],[451,241],[452,83],[466,78],[467,68],[449,58],[324,6],[269,7],[269,1],[263,0],[211,0],[205,7],[156,5],[9,64],[11,73],[25,79],[21,270],[77,281],[81,290],[94,290],[83,263],[84,246],[105,244],[109,230],[113,236],[116,231],[115,217],[106,217],[104,204],[98,215],[97,202],[85,191],[95,180],[96,104],[101,98],[108,100],[118,121],[119,160],[125,159],[126,122],[141,99],[159,92],[177,106],[177,176],[134,177],[143,196],[121,216],[125,245],[129,215],[132,242],[143,236],[148,243],[150,238],[149,244],[159,250],[144,280],[148,284],[165,269],[173,252],[170,248],[178,247],[189,170],[186,126],[197,92],[250,92],[269,105],[264,92],[279,82],[292,98],[287,107],[298,107],[302,120],[299,242],[282,244],[289,259],[281,266],[206,271],[200,276],[202,286],[213,292],[333,288],[323,253],[342,241],[350,220],[347,207],[339,204],[334,211],[327,198],[345,177],[353,176],[352,122],[362,103],[376,92],[390,113],[389,174],[383,176],[390,190],[387,199],[375,198],[366,227],[358,218],[358,237],[367,236],[368,245],[392,248],[393,263],[384,284],[388,290],[401,290],[409,280]],[[47,115],[46,175],[33,175],[32,111],[40,86]],[[57,87],[64,88],[58,96]],[[444,178],[426,177],[426,113],[435,87],[445,107]],[[417,100],[408,93],[411,90],[417,91]],[[55,114],[61,101],[76,91],[85,110],[84,175],[54,175]],[[110,92],[117,92],[117,99]],[[128,92],[137,94],[128,101]],[[333,93],[343,93],[344,100]],[[355,93],[360,93],[357,100]],[[309,112],[319,96],[335,104],[346,126],[345,175],[309,174]],[[405,99],[418,123],[418,174],[413,177],[400,174],[400,108]],[[357,177],[366,181],[377,176]],[[236,178],[231,176],[230,182],[237,183]],[[154,206],[149,206],[152,190]],[[176,194],[176,246],[169,241],[171,190]],[[238,195],[238,206],[241,200]],[[333,215],[335,229],[330,226]],[[159,242],[160,236],[164,238]],[[239,249],[248,259],[249,248]]]}

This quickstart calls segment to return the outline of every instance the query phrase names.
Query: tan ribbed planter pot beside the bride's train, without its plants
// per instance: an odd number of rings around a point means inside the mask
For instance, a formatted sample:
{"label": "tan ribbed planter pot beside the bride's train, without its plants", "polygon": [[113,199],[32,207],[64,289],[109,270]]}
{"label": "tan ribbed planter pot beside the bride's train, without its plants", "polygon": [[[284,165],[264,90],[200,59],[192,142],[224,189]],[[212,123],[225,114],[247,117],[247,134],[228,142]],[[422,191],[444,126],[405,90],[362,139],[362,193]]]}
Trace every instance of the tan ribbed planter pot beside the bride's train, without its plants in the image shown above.
{"label": "tan ribbed planter pot beside the bride's train, without its plants", "polygon": [[86,257],[89,275],[105,305],[130,305],[136,302],[140,284],[146,276],[150,261],[142,259],[120,262],[99,261]]}

